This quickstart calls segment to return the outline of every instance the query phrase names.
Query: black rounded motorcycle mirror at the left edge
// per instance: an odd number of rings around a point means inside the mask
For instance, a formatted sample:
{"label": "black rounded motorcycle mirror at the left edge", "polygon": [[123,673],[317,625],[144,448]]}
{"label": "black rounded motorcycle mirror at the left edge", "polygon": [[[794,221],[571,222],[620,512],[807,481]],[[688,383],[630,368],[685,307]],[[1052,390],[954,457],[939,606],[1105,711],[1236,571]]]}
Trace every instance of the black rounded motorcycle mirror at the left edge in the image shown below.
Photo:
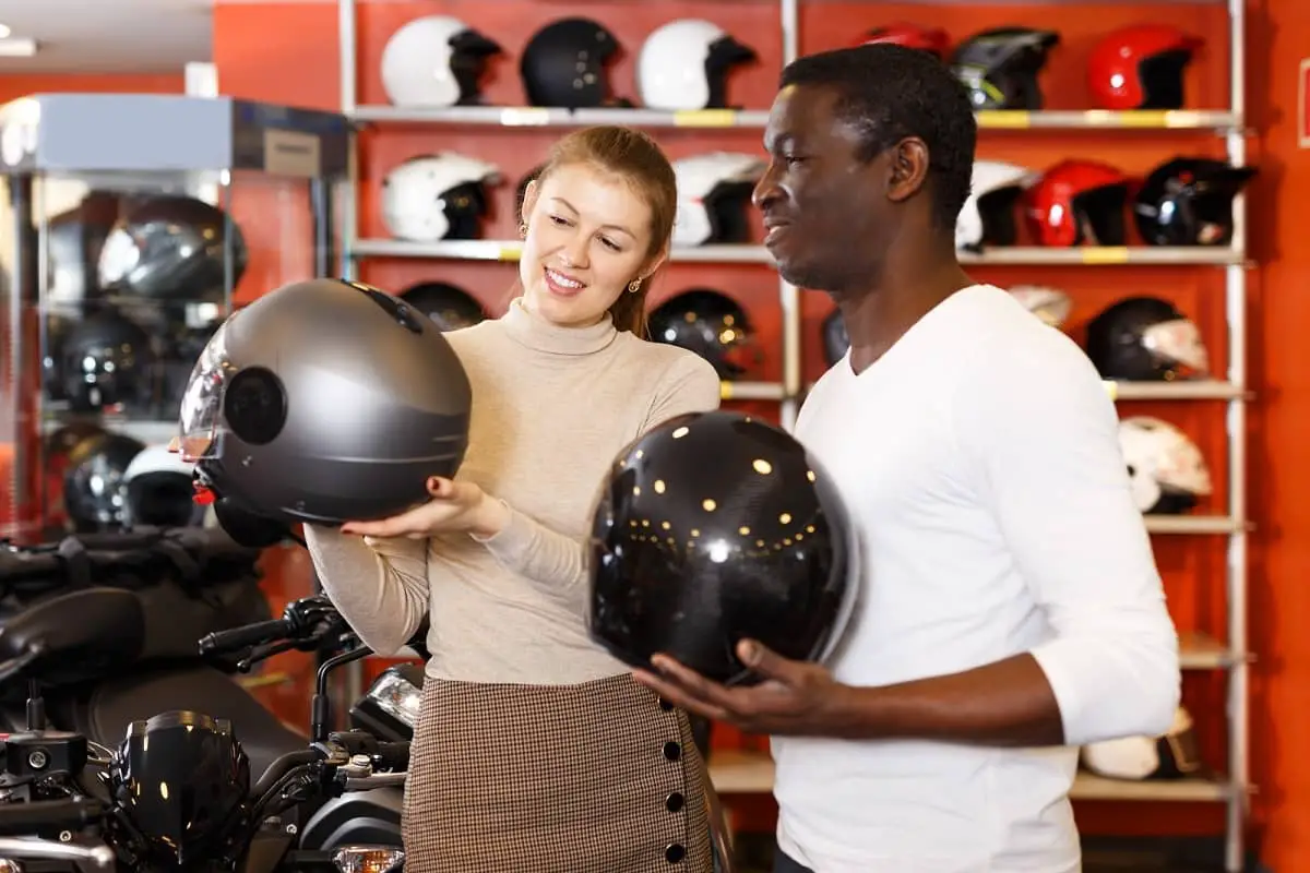
{"label": "black rounded motorcycle mirror at the left edge", "polygon": [[58,685],[66,670],[119,670],[140,656],[144,641],[145,613],[132,592],[64,592],[0,622],[0,681],[39,669],[35,678]]}

